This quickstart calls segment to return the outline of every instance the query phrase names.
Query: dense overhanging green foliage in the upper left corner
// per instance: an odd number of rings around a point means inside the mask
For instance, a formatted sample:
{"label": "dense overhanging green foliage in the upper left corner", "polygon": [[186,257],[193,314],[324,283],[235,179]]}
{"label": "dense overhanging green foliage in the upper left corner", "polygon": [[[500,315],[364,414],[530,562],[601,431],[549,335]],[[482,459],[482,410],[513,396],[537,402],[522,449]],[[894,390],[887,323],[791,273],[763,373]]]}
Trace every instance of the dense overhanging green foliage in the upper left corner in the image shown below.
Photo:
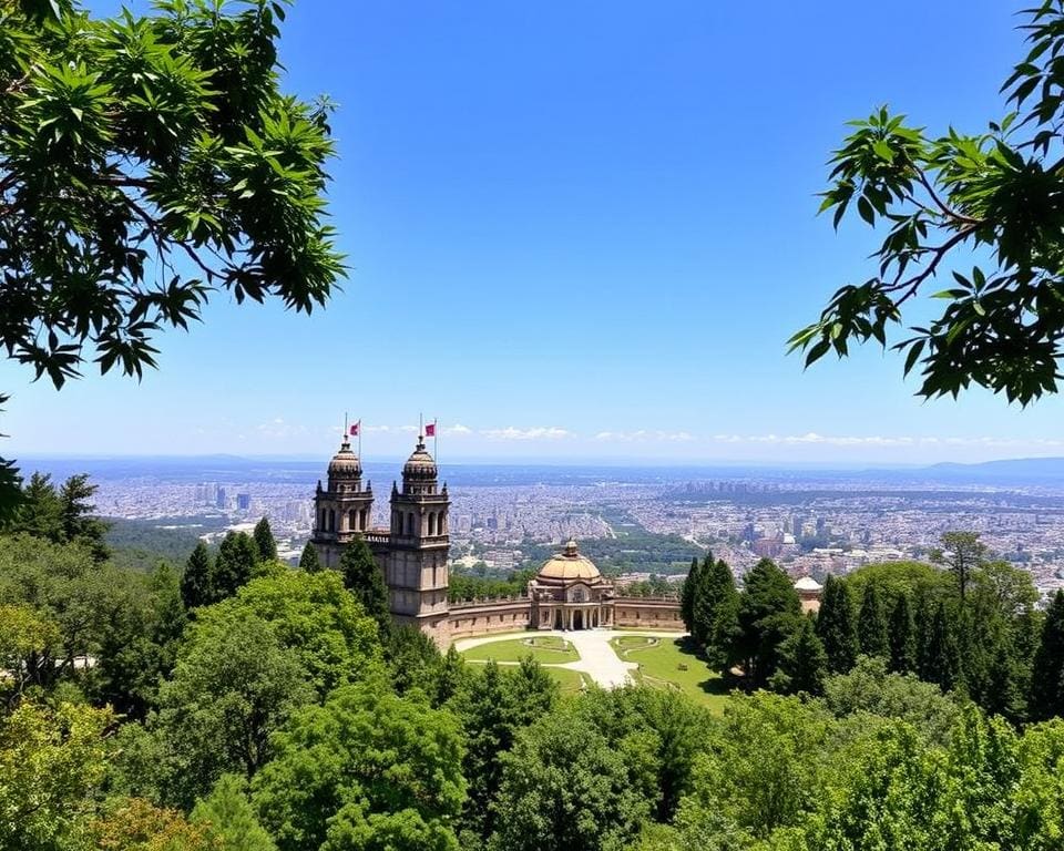
{"label": "dense overhanging green foliage in the upper left corner", "polygon": [[239,6],[0,4],[0,346],[37,378],[140,378],[212,291],[328,300],[329,105],[279,91],[284,6]]}

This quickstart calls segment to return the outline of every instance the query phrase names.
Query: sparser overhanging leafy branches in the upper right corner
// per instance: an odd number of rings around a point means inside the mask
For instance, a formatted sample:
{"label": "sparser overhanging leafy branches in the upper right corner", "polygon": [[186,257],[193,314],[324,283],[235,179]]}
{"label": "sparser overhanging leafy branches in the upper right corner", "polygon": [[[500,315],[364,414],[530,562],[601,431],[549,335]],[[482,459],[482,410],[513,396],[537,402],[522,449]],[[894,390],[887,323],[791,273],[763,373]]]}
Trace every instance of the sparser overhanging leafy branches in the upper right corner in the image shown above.
{"label": "sparser overhanging leafy branches in the upper right corner", "polygon": [[1002,86],[1015,111],[989,132],[929,137],[887,107],[851,122],[831,160],[821,212],[835,226],[855,207],[890,228],[878,273],[839,289],[820,319],[790,339],[806,365],[851,340],[887,346],[888,326],[962,249],[988,259],[952,271],[932,298],[941,316],[892,346],[918,365],[919,394],[956,396],[972,383],[1026,404],[1056,392],[1064,356],[1064,2],[1025,10],[1031,50]]}

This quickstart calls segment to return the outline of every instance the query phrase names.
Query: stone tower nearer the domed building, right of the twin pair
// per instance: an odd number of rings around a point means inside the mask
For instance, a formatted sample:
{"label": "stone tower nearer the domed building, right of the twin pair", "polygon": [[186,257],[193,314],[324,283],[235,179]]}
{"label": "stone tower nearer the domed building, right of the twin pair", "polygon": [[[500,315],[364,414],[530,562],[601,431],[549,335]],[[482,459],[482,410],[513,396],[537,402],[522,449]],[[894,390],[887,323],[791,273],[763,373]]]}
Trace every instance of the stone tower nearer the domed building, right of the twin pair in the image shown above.
{"label": "stone tower nearer the domed building, right of the twin pair", "polygon": [[437,478],[436,461],[421,435],[402,468],[402,489],[391,486],[388,547],[379,554],[396,623],[417,626],[442,646],[448,639],[450,500],[446,484],[438,490]]}

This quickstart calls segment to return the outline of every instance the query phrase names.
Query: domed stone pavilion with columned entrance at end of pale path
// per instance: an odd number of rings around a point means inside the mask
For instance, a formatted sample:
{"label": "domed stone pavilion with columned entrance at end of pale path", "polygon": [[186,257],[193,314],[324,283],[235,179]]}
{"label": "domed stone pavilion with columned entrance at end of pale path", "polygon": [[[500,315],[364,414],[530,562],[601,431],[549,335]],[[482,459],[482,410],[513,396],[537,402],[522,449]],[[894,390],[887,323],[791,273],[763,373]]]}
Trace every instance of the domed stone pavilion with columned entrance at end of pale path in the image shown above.
{"label": "domed stone pavilion with columned entrance at end of pale path", "polygon": [[592,629],[614,623],[613,583],[580,554],[575,541],[529,582],[529,626],[534,629]]}

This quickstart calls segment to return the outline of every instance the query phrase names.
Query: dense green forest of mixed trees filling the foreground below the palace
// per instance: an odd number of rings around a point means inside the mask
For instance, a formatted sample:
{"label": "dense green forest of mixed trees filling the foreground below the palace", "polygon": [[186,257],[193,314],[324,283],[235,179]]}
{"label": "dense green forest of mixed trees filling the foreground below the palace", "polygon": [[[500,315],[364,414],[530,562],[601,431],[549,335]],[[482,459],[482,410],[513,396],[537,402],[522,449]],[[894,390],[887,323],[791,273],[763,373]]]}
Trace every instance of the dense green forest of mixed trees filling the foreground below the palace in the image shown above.
{"label": "dense green forest of mixed trees filling the foreground below the palace", "polygon": [[[830,581],[819,618],[770,562],[741,587],[697,562],[692,640],[736,687],[715,714],[649,687],[563,696],[531,658],[441,654],[391,625],[365,546],[338,571],[313,550],[294,570],[265,521],[180,571],[122,568],[91,485],[32,486],[0,537],[0,848],[1048,851],[1064,837],[1064,596],[1039,612],[975,536],[958,539],[968,561]],[[44,534],[34,517],[57,503],[64,531]]]}

